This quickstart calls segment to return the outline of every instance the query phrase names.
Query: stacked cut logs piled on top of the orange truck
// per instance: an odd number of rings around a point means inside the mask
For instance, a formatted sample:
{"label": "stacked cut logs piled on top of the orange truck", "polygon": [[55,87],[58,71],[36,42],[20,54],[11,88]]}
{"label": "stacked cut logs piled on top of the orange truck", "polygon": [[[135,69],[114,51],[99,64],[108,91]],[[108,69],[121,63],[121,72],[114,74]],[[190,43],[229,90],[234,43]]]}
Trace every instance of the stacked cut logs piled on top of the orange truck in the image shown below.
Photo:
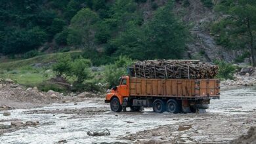
{"label": "stacked cut logs piled on top of the orange truck", "polygon": [[129,75],[144,79],[213,79],[218,69],[199,60],[146,60],[129,67]]}

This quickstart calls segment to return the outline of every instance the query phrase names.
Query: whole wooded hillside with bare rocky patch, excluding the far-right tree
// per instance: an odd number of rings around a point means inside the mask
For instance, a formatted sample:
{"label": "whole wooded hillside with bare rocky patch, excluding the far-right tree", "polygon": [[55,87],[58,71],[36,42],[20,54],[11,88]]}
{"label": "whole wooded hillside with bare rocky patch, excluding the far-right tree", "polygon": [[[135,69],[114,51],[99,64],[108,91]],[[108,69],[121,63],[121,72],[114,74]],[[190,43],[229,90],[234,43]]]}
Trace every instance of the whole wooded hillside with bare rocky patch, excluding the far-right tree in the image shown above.
{"label": "whole wooded hillside with bare rocky patch, excluding the far-right tree", "polygon": [[[95,65],[111,63],[119,55],[136,60],[249,62],[249,42],[236,29],[231,32],[225,29],[231,26],[230,22],[223,21],[225,12],[218,9],[228,9],[230,3],[224,0],[1,1],[0,53],[12,58],[31,58],[42,52],[80,49],[84,51],[83,57]],[[255,7],[253,2],[250,5]],[[252,19],[251,27],[254,22]],[[230,37],[227,33],[231,33]],[[241,43],[237,43],[237,37]]]}

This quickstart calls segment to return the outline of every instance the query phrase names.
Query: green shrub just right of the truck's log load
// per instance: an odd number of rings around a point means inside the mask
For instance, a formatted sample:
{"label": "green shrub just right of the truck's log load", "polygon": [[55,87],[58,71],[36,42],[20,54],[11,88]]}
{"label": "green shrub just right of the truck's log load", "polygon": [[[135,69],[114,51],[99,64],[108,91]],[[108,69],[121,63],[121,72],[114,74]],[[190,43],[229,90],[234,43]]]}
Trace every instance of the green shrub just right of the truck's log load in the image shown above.
{"label": "green shrub just right of the truck's log load", "polygon": [[219,65],[219,73],[217,77],[221,79],[234,79],[233,74],[236,70],[235,66],[224,61],[216,61],[215,63]]}

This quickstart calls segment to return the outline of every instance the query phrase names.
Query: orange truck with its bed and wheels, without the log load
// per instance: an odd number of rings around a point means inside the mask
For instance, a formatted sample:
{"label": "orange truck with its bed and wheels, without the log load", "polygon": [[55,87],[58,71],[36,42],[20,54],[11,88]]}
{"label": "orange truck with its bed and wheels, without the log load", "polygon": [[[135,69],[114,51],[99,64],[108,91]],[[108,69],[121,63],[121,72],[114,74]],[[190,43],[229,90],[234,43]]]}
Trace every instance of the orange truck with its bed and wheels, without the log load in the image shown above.
{"label": "orange truck with its bed and wheels, without the log load", "polygon": [[220,98],[219,79],[141,79],[123,76],[119,86],[106,94],[114,112],[141,111],[153,107],[156,113],[194,113],[207,109],[210,99]]}

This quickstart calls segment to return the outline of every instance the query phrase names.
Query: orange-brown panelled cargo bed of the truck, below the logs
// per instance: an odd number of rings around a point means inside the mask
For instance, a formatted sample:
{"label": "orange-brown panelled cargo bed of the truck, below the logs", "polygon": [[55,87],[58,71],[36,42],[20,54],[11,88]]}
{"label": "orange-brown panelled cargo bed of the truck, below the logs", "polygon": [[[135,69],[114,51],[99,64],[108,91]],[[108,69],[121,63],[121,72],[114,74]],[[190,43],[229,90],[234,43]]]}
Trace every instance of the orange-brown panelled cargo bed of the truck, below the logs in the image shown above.
{"label": "orange-brown panelled cargo bed of the truck, below the logs", "polygon": [[139,79],[130,78],[130,96],[175,98],[219,98],[218,79]]}

